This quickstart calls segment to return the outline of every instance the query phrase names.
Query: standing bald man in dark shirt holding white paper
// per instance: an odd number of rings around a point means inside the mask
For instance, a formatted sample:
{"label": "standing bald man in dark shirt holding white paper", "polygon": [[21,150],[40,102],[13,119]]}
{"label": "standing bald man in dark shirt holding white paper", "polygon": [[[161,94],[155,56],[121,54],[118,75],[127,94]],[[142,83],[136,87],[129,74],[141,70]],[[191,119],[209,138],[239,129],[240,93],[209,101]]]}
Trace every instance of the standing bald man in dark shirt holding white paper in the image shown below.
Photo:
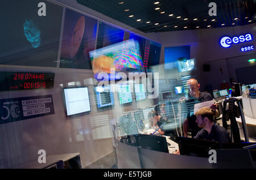
{"label": "standing bald man in dark shirt holding white paper", "polygon": [[[187,137],[188,131],[191,130],[191,136],[193,138],[197,134],[197,132],[201,130],[201,128],[197,126],[196,115],[193,114],[194,105],[199,102],[213,100],[213,98],[212,98],[212,95],[210,95],[209,93],[199,91],[200,84],[197,82],[196,79],[193,79],[193,78],[189,79],[187,81],[187,87],[188,87],[188,93],[189,93],[188,100],[186,101],[188,104],[187,105],[188,117],[183,122],[183,132],[184,132],[184,136]],[[216,117],[220,116],[220,114],[216,110],[217,109],[216,104],[213,104],[212,106],[210,106],[210,108],[216,111]]]}

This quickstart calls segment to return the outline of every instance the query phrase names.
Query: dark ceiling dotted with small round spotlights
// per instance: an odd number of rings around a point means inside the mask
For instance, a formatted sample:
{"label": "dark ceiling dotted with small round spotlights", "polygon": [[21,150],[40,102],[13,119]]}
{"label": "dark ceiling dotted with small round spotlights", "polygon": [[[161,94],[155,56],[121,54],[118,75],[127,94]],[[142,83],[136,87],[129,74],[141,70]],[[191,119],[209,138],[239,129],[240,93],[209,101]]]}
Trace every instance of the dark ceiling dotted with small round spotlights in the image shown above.
{"label": "dark ceiling dotted with small round spotlights", "polygon": [[[232,27],[256,22],[256,0],[77,0],[77,2],[146,33]],[[159,3],[154,4],[155,2]],[[210,2],[216,3],[217,16],[209,16]],[[157,7],[160,9],[155,10]],[[171,14],[173,15],[170,16]],[[129,18],[130,15],[133,17]],[[177,18],[178,16],[181,18]],[[141,21],[137,21],[138,19]]]}

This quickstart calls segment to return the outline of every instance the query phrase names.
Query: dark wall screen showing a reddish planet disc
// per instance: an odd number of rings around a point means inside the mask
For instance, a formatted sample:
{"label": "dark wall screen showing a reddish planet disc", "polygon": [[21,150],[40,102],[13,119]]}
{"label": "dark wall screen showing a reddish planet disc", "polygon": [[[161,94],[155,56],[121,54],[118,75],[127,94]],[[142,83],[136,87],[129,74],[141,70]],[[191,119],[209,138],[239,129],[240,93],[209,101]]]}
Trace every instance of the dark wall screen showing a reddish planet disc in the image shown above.
{"label": "dark wall screen showing a reddish planet disc", "polygon": [[97,20],[67,9],[63,30],[60,67],[92,69],[89,52],[94,50]]}

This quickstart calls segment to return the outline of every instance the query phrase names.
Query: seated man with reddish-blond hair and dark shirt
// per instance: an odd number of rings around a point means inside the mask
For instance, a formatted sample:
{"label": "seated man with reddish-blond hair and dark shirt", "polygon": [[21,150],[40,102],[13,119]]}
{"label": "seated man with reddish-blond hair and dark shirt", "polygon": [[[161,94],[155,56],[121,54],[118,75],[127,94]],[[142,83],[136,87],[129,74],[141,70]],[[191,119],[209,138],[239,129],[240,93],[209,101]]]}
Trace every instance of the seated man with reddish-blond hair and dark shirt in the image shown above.
{"label": "seated man with reddish-blond hair and dark shirt", "polygon": [[195,136],[195,139],[213,140],[220,144],[230,142],[229,134],[225,128],[215,125],[213,122],[214,112],[212,109],[201,108],[195,115],[197,125],[202,128]]}

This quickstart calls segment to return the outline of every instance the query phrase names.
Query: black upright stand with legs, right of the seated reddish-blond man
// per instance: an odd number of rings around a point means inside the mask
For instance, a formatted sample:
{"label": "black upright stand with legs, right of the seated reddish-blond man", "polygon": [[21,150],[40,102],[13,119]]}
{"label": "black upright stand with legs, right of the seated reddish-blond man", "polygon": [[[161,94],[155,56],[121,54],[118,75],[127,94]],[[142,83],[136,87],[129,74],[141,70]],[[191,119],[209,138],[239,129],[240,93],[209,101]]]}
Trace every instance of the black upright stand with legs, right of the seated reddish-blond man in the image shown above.
{"label": "black upright stand with legs, right of the seated reddish-blond man", "polygon": [[[226,130],[228,130],[227,121],[230,119],[231,138],[233,136],[234,143],[241,142],[240,131],[236,121],[236,117],[238,118],[240,116],[242,121],[243,134],[245,135],[245,142],[249,142],[248,132],[247,132],[246,123],[245,123],[245,115],[243,114],[241,101],[242,99],[238,99],[238,98],[229,98],[227,100],[224,100],[222,125]],[[238,106],[235,105],[235,102],[237,102]],[[226,110],[227,103],[229,103],[228,110]]]}

